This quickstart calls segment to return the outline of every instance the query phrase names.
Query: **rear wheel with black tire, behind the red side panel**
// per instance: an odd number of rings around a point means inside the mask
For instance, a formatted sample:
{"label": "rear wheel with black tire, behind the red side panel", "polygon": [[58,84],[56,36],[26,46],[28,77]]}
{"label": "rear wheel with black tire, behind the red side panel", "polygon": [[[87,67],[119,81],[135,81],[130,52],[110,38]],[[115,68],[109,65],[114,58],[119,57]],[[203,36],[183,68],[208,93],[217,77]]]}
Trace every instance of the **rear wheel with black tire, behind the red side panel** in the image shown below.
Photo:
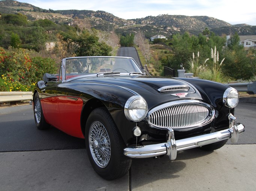
{"label": "rear wheel with black tire, behind the red side panel", "polygon": [[43,116],[43,110],[42,110],[42,105],[40,102],[40,98],[38,93],[35,94],[34,96],[34,120],[36,122],[36,127],[37,129],[48,129],[49,124],[46,123],[45,118]]}

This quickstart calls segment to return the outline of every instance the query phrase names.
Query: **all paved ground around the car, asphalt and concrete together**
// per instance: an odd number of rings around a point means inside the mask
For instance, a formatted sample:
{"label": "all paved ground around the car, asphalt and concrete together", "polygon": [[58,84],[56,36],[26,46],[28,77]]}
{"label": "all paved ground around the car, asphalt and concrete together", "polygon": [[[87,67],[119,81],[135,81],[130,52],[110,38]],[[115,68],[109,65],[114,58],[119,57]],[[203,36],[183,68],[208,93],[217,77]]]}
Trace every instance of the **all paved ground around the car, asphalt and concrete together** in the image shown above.
{"label": "all paved ground around the car, asphalt and concrete together", "polygon": [[246,126],[238,145],[185,150],[174,161],[133,160],[129,173],[106,181],[91,167],[84,140],[37,130],[30,105],[0,109],[0,191],[255,191],[255,111],[256,104],[238,104]]}

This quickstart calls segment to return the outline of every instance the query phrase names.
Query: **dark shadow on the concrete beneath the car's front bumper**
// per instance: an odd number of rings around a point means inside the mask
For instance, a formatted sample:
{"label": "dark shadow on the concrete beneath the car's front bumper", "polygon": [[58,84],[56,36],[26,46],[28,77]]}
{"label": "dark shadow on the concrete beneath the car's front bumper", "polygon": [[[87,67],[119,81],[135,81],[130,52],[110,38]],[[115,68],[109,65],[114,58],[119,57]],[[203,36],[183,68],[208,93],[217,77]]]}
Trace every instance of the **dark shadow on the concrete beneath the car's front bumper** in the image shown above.
{"label": "dark shadow on the concrete beneath the car's front bumper", "polygon": [[[176,160],[169,160],[168,156],[148,159],[134,159],[130,170],[132,177],[131,185],[143,187],[155,181],[164,181],[179,178],[179,172],[186,169],[186,160],[198,160],[213,151],[204,151],[200,148],[193,148],[185,151],[178,151]],[[143,179],[139,179],[143,177]]]}

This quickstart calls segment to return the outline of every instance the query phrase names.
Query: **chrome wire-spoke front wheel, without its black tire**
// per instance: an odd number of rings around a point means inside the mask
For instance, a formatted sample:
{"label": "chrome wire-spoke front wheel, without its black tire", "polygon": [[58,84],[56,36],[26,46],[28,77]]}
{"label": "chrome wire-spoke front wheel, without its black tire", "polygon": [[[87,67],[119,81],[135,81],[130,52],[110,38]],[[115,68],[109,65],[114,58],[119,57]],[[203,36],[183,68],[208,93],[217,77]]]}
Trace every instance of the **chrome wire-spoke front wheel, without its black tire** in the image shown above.
{"label": "chrome wire-spoke front wheel, without its black tire", "polygon": [[105,126],[99,121],[91,124],[89,140],[94,162],[101,168],[106,167],[111,156],[110,140]]}

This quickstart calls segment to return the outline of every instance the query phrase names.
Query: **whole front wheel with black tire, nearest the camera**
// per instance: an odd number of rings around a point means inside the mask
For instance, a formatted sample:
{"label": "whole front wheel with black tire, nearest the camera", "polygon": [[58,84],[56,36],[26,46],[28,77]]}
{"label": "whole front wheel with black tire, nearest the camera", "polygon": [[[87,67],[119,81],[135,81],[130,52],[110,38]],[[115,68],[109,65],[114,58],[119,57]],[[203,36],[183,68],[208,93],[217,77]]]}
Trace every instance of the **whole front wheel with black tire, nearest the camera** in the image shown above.
{"label": "whole front wheel with black tire, nearest the camera", "polygon": [[85,145],[93,169],[104,179],[124,176],[132,159],[124,156],[125,144],[104,107],[94,109],[85,125]]}

